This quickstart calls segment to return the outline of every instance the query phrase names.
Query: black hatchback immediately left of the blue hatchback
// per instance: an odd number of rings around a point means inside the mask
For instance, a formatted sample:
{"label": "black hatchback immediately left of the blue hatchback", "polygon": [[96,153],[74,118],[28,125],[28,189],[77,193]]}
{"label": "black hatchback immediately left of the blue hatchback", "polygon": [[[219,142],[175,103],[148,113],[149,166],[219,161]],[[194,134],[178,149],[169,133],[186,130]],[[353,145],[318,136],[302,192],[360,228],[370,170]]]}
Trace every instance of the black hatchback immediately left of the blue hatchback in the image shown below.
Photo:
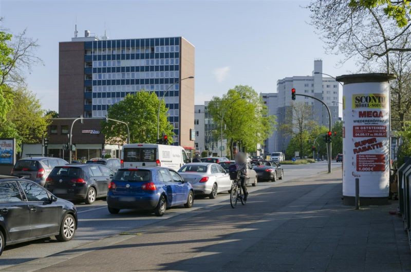
{"label": "black hatchback immediately left of the blue hatchback", "polygon": [[46,188],[54,195],[70,200],[93,203],[107,196],[107,186],[114,171],[97,164],[70,164],[54,167]]}

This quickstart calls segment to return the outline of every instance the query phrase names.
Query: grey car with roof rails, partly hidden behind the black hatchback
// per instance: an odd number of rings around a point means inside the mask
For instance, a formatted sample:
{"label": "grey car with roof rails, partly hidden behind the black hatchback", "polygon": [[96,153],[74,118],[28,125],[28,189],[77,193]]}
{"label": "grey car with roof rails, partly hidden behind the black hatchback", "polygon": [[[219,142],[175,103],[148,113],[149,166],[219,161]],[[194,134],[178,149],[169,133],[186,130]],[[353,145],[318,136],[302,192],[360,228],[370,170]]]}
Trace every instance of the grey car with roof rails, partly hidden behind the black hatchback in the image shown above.
{"label": "grey car with roof rails, partly hidden behind the black hatchback", "polygon": [[55,166],[68,164],[63,159],[51,157],[24,158],[16,162],[11,174],[31,180],[44,187],[46,179]]}

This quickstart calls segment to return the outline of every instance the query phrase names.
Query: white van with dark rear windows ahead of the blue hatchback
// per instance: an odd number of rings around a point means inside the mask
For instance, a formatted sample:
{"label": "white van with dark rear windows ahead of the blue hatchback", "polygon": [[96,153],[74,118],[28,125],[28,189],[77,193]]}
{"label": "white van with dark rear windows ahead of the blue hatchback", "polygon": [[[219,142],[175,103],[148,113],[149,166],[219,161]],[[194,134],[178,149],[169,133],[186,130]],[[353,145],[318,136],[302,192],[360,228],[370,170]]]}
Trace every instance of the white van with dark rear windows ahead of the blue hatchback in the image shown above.
{"label": "white van with dark rear windows ahead of the blue hatchback", "polygon": [[181,146],[125,144],[121,150],[122,167],[165,166],[177,171],[186,163],[189,157]]}

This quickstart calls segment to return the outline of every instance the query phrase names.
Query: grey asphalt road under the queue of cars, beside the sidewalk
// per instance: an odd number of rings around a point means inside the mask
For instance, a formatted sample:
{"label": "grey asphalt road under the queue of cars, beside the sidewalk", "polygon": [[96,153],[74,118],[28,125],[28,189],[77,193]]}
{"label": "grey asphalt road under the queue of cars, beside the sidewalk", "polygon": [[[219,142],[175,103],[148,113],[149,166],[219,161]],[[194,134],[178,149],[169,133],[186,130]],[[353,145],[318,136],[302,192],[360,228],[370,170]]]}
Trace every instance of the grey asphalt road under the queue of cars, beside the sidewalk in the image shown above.
{"label": "grey asphalt road under the queue of cars, beside the sidewalk", "polygon": [[[333,167],[341,167],[341,163],[333,163]],[[316,173],[327,171],[327,163],[317,162],[309,165],[283,165],[284,179],[277,182],[260,182],[256,187],[249,187],[249,192],[275,186],[276,184],[287,182],[295,178],[312,176]],[[156,217],[151,213],[141,213],[124,210],[118,215],[111,215],[107,211],[105,201],[99,200],[92,205],[77,205],[79,216],[79,227],[76,236],[69,242],[58,242],[53,238],[32,241],[6,247],[0,257],[0,270],[27,261],[50,256],[57,252],[76,248],[90,242],[100,240],[109,236],[120,234],[121,232],[136,229],[153,223],[160,223],[163,220],[173,218],[181,213],[210,207],[217,203],[229,200],[228,193],[220,193],[216,199],[196,198],[191,209],[183,207],[167,209],[163,217]],[[229,205],[229,204],[227,204]]]}

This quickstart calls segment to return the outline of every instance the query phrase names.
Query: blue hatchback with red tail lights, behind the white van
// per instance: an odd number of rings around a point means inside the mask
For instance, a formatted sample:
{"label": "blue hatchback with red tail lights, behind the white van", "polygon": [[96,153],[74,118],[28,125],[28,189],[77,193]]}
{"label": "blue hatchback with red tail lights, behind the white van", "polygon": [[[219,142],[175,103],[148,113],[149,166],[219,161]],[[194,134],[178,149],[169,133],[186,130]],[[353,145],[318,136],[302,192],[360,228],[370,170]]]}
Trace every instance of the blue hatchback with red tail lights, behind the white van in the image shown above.
{"label": "blue hatchback with red tail lights, behind the white van", "polygon": [[108,184],[110,213],[118,213],[121,209],[153,210],[157,216],[162,216],[167,207],[191,208],[193,203],[191,184],[166,167],[122,168]]}

